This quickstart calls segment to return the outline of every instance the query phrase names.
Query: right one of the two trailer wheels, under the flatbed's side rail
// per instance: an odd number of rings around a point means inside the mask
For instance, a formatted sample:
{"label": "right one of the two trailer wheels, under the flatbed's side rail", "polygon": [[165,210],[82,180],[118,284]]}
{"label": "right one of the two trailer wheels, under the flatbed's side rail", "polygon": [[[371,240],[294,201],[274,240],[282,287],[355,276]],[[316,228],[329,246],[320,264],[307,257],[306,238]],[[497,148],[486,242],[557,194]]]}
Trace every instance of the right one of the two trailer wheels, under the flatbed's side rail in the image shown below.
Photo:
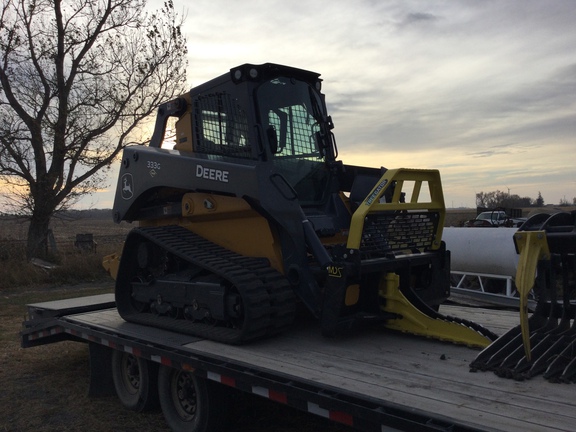
{"label": "right one of the two trailer wheels, under the flatbed's side rail", "polygon": [[223,385],[190,372],[161,366],[158,393],[166,423],[174,432],[226,430],[230,399]]}

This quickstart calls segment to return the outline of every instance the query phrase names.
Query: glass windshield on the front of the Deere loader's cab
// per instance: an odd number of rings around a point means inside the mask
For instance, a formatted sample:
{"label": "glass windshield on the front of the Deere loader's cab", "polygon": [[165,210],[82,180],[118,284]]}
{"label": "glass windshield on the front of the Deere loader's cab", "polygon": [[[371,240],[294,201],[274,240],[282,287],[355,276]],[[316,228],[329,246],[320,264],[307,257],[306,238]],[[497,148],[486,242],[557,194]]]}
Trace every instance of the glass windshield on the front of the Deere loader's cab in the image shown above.
{"label": "glass windshield on the front of the Deere loader's cab", "polygon": [[322,202],[329,173],[319,142],[326,118],[320,94],[308,83],[279,77],[262,84],[257,99],[275,167],[302,205]]}

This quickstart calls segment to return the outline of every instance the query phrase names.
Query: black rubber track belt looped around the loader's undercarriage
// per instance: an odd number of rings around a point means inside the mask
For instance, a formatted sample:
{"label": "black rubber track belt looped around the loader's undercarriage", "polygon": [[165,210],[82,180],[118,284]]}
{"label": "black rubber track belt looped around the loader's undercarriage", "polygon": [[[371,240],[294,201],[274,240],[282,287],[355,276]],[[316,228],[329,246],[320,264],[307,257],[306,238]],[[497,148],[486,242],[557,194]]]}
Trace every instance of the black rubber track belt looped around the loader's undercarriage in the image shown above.
{"label": "black rubber track belt looped around the loader's undercarriage", "polygon": [[[131,298],[131,281],[137,276],[136,251],[142,240],[233,285],[242,298],[241,324],[205,324],[138,311]],[[238,255],[178,225],[140,227],[128,234],[116,281],[116,305],[126,321],[241,344],[289,328],[294,320],[295,304],[288,281],[271,268],[266,259]]]}

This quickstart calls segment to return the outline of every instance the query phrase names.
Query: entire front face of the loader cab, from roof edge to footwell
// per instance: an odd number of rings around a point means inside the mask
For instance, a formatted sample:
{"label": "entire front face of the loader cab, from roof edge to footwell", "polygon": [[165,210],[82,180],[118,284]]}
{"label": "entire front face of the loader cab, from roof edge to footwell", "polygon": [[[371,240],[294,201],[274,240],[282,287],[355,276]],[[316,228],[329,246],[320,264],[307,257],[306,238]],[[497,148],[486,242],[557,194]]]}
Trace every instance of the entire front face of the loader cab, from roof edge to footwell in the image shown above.
{"label": "entire front face of the loader cab, from roof edge to footwell", "polygon": [[257,130],[272,163],[292,187],[320,237],[346,230],[350,212],[340,196],[332,119],[319,75],[279,69],[254,91]]}

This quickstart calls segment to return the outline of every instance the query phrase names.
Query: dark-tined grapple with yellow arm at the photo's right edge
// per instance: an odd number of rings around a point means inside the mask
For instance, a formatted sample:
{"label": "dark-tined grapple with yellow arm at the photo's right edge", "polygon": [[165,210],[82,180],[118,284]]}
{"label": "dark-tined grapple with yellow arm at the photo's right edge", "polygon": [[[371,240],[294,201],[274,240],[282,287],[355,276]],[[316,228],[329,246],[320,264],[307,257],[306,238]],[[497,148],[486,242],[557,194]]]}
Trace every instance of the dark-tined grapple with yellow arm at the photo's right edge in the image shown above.
{"label": "dark-tined grapple with yellow arm at the photo's right edge", "polygon": [[[484,349],[473,370],[506,378],[576,380],[576,212],[539,214],[515,233],[520,324]],[[536,308],[528,318],[528,296]],[[560,296],[559,296],[560,295]]]}

